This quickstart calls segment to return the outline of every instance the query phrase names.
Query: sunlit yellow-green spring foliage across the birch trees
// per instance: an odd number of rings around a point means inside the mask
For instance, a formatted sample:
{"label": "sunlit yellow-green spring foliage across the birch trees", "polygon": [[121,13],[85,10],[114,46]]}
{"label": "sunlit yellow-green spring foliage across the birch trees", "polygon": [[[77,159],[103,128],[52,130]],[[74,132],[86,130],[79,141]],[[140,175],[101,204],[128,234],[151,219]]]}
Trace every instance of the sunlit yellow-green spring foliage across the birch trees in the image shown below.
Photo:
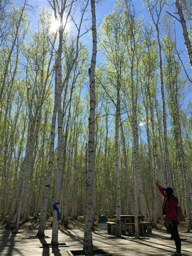
{"label": "sunlit yellow-green spring foliage across the birch trees", "polygon": [[[153,2],[159,3],[159,1]],[[160,1],[160,3],[163,4],[164,1]],[[21,170],[28,138],[29,136],[34,138],[39,123],[37,139],[31,152],[32,165],[30,180],[28,181],[28,195],[26,195],[30,212],[39,213],[49,164],[58,35],[50,31],[52,14],[47,9],[42,9],[39,13],[37,30],[31,34],[28,32],[28,15],[25,13],[17,32],[16,44],[6,73],[6,63],[17,30],[18,17],[21,14],[21,9],[17,9],[14,4],[10,4],[9,7],[1,10],[0,13],[2,14],[0,17],[0,25],[2,27],[2,30],[0,30],[1,86],[5,78],[3,97],[0,102],[0,138],[2,142],[0,182],[2,183],[2,191],[4,191],[6,187],[5,177],[8,177],[7,187],[10,192],[7,202],[11,204],[17,189],[19,176],[22,174]],[[136,109],[139,130],[138,147],[141,178],[149,209],[152,209],[151,202],[154,198],[152,189],[151,191],[149,190],[149,184],[153,182],[152,171],[155,172],[158,178],[160,177],[162,182],[166,183],[156,34],[151,24],[147,24],[143,17],[139,17],[136,13],[130,1],[118,0],[114,10],[109,15],[105,15],[101,26],[98,28],[98,49],[102,52],[103,57],[96,67],[95,76],[96,174],[93,191],[94,210],[98,215],[102,209],[104,185],[106,186],[106,213],[112,216],[116,211],[115,104],[118,90],[121,97],[120,123],[123,125],[128,158],[128,181],[131,189],[129,196],[134,196],[133,108]],[[172,25],[170,26],[168,20],[164,19],[163,26],[166,28],[166,33],[163,31],[162,38],[164,84],[166,103],[169,108],[167,114],[168,146],[174,182],[180,186],[181,174],[179,172],[178,145],[180,145],[181,141],[189,180],[192,179],[190,172],[192,118],[188,114],[192,105],[191,102],[188,103],[188,110],[182,106],[186,93],[186,77],[183,75],[177,54],[175,54],[175,42],[171,33]],[[73,33],[65,32],[62,49],[63,80],[73,63],[75,54],[76,37]],[[62,92],[63,148],[61,179],[63,182],[63,216],[66,205],[69,206],[68,214],[71,214],[75,204],[75,195],[77,195],[77,211],[81,216],[84,213],[87,168],[85,166],[85,154],[89,116],[89,67],[89,48],[83,41],[80,41],[77,61],[70,72],[66,84],[64,84]],[[2,89],[1,86],[0,91]],[[153,109],[155,135],[153,135],[152,131],[150,108]],[[180,123],[178,123],[178,120],[180,120]],[[57,125],[58,123],[55,126],[57,127]],[[149,132],[149,141],[147,140],[146,129]],[[177,133],[179,129],[182,131],[181,138]],[[57,134],[55,135],[53,172],[51,174],[49,213],[52,211],[52,201],[55,193],[56,137]],[[154,153],[154,145],[156,145],[157,157]],[[152,155],[151,163],[149,163],[149,148],[151,148]],[[126,213],[127,184],[123,150],[119,126],[122,213]],[[157,168],[156,161],[159,161],[161,172]],[[152,170],[150,170],[151,167]],[[181,196],[181,191],[178,191],[179,196]],[[4,201],[3,199],[2,202]]]}

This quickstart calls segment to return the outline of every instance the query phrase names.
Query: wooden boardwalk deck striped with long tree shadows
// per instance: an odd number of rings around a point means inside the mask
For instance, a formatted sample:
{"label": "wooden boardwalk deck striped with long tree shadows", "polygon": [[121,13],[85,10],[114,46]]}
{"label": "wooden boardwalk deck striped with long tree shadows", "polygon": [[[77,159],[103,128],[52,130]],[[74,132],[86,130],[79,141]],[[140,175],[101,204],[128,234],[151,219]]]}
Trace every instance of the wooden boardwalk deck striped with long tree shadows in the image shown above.
{"label": "wooden boardwalk deck striped with long tree shadows", "polygon": [[[22,230],[23,233],[12,234],[9,230],[0,230],[0,256],[69,256],[67,250],[82,250],[83,230],[59,230],[59,242],[69,247],[40,248],[42,243],[51,243],[51,238],[27,239],[35,236],[37,230]],[[45,230],[45,235],[51,237],[52,230]],[[107,230],[93,232],[94,249],[103,249],[112,256],[144,256],[144,255],[172,255],[175,244],[166,240],[170,235],[166,232],[154,231],[153,235],[142,239],[108,239]],[[192,232],[180,232],[182,255],[192,256]]]}

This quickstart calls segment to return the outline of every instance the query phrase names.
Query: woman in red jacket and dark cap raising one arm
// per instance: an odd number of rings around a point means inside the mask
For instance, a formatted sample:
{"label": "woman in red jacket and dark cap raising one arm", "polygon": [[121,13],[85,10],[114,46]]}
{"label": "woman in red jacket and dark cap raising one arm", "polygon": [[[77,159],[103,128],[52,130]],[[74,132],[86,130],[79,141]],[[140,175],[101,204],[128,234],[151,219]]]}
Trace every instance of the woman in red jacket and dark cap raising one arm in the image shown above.
{"label": "woman in red jacket and dark cap raising one arm", "polygon": [[162,202],[162,209],[164,215],[165,225],[169,227],[171,231],[171,237],[173,237],[176,246],[176,252],[173,256],[181,256],[181,240],[177,229],[177,215],[176,206],[179,200],[173,195],[173,189],[171,187],[161,187],[157,181],[158,189],[164,196]]}

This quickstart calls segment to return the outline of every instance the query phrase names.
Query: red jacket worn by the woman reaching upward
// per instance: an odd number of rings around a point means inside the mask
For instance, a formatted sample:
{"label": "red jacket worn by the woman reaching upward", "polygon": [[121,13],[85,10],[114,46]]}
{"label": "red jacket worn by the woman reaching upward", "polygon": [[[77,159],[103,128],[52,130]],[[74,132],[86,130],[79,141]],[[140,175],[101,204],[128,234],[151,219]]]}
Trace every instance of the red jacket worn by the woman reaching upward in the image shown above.
{"label": "red jacket worn by the woman reaching upward", "polygon": [[164,217],[167,219],[177,220],[176,206],[179,203],[179,200],[174,195],[170,196],[169,200],[167,200],[167,197],[164,194],[164,190],[160,185],[158,185],[158,189],[161,192],[161,194],[164,196],[163,202],[162,202]]}

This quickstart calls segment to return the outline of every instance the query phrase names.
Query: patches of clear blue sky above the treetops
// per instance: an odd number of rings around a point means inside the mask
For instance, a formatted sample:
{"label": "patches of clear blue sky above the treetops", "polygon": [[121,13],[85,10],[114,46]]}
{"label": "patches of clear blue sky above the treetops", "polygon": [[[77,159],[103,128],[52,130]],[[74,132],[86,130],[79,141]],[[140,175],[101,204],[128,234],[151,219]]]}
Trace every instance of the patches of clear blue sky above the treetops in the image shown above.
{"label": "patches of clear blue sky above the treetops", "polygon": [[[47,2],[47,0],[28,0],[28,1],[29,1],[29,4],[31,4],[32,6],[35,7],[34,12],[28,11],[28,16],[31,20],[31,30],[33,31],[33,30],[36,30],[36,28],[37,28],[36,25],[37,25],[37,21],[38,21],[38,13],[39,13],[39,11],[41,11],[42,6],[45,9],[50,9],[50,7],[49,7],[49,3]],[[21,0],[13,0],[13,2],[15,4],[21,5]],[[114,6],[115,2],[116,2],[115,0],[103,0],[100,3],[96,4],[97,24],[102,23],[102,20],[105,17],[105,15],[107,15],[107,14],[111,13],[111,11],[113,11],[113,6]],[[168,0],[167,3],[172,4],[172,6],[171,5],[166,6],[164,8],[163,13],[165,13],[166,9],[169,10],[170,13],[175,13],[176,9],[175,9],[174,2],[175,1],[173,1],[173,0]],[[143,16],[147,23],[152,22],[151,16],[147,9],[147,6],[143,4],[142,0],[132,0],[132,3],[134,4],[135,10],[136,10],[136,13],[138,14],[138,16]],[[88,18],[91,18],[90,12],[87,12],[86,15]],[[178,47],[178,49],[182,50],[182,52],[183,52],[182,60],[185,63],[185,67],[186,67],[188,73],[192,77],[192,72],[191,72],[191,68],[189,65],[188,56],[186,53],[186,47],[184,44],[181,24],[179,24],[178,21],[176,21],[175,24],[176,24],[176,34],[177,34],[177,47]],[[89,26],[89,24],[87,24],[87,26]],[[163,28],[162,23],[161,23],[161,26],[162,26],[161,28]],[[82,30],[82,31],[84,32],[85,30]],[[162,31],[163,30],[160,30],[161,33],[163,33]],[[83,37],[81,37],[81,40],[83,40],[87,43],[87,46],[88,46],[88,49],[90,52],[90,56],[91,56],[92,38],[91,38],[90,34],[88,34],[88,33],[85,34]],[[102,54],[100,54],[100,52],[98,51],[97,63],[100,63],[101,61],[102,61]],[[189,87],[190,87],[190,85],[189,85]],[[187,103],[188,99],[190,99],[190,98],[191,98],[191,94],[188,93],[188,95],[186,96],[186,99],[185,99],[185,104]]]}

